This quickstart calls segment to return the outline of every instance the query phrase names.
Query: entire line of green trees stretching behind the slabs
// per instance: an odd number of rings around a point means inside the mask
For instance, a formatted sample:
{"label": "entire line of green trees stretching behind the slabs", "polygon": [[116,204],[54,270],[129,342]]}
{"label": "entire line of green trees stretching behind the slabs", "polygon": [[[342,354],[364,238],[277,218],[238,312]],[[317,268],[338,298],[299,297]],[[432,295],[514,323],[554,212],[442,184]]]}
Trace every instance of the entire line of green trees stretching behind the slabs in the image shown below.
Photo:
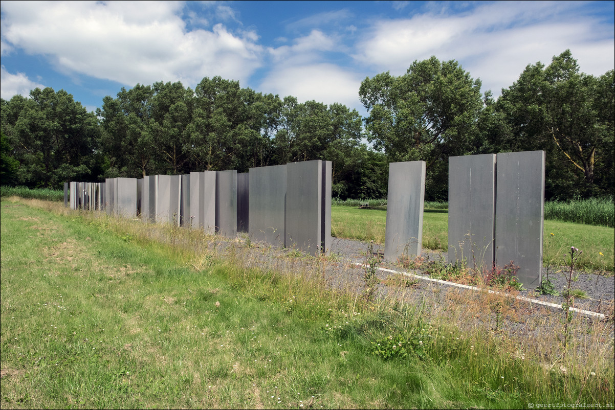
{"label": "entire line of green trees stretching behind the slabs", "polygon": [[[205,77],[137,84],[87,112],[64,90],[1,100],[5,185],[60,187],[190,171],[330,160],[333,196],[386,197],[389,162],[427,162],[426,199],[446,200],[448,157],[546,151],[546,197],[613,195],[613,70],[581,73],[569,50],[528,65],[496,100],[457,61],[367,77],[362,118],[343,104],[300,103]],[[366,144],[365,142],[369,143]]]}

